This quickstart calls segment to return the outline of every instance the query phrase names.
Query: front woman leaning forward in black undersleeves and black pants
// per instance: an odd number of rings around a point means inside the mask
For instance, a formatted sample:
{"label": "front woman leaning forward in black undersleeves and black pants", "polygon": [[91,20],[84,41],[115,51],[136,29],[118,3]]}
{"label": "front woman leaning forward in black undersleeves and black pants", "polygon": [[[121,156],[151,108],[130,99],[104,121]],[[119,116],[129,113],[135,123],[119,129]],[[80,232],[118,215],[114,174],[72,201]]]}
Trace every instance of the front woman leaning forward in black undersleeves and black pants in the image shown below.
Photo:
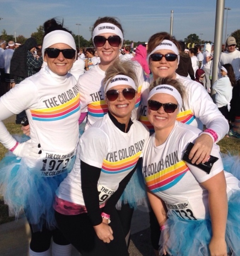
{"label": "front woman leaning forward in black undersleeves and black pants", "polygon": [[129,255],[115,205],[149,137],[146,127],[130,118],[136,83],[133,62],[116,61],[107,69],[108,112],[81,136],[74,168],[56,192],[58,227],[83,256]]}

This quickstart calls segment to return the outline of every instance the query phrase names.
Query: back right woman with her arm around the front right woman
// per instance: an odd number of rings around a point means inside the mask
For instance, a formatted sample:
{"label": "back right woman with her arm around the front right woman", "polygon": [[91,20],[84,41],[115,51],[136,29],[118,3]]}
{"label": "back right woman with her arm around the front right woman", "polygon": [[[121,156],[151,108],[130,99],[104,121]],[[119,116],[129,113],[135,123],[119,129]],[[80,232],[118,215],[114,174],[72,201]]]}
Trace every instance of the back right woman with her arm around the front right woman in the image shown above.
{"label": "back right woman with her arm around the front right woman", "polygon": [[[141,102],[142,110],[140,121],[154,132],[153,126],[147,119],[147,97],[149,85],[152,80],[157,78],[169,77],[176,79],[184,87],[186,97],[183,100],[182,108],[179,109],[177,120],[203,130],[203,124],[207,129],[202,132],[195,141],[189,158],[192,163],[205,163],[210,156],[214,142],[221,140],[228,132],[229,126],[227,120],[219,112],[211,97],[203,86],[197,82],[189,80],[184,76],[176,74],[179,62],[178,42],[170,34],[160,32],[152,35],[148,40],[148,63],[153,74],[152,79],[147,79],[142,86]],[[159,233],[157,224],[151,224],[152,229]],[[159,235],[153,234],[152,239],[156,238],[152,244],[154,249],[158,248]]]}

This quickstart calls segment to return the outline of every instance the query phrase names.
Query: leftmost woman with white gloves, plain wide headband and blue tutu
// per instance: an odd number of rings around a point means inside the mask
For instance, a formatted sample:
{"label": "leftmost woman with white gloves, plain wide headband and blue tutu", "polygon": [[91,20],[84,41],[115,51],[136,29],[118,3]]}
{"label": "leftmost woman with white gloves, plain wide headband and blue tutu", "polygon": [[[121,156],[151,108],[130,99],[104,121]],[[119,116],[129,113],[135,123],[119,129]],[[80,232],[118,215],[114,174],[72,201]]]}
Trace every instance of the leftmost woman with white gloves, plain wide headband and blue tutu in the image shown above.
{"label": "leftmost woman with white gloves, plain wide headband and blue tutu", "polygon": [[71,245],[55,229],[52,204],[72,169],[79,137],[79,93],[76,79],[68,74],[76,45],[62,25],[50,29],[42,44],[47,66],[0,99],[0,120],[26,110],[31,130],[30,139],[21,143],[0,122],[0,142],[10,150],[1,163],[0,194],[16,217],[24,210],[32,233],[31,256],[50,255],[52,235],[53,255],[71,255]]}

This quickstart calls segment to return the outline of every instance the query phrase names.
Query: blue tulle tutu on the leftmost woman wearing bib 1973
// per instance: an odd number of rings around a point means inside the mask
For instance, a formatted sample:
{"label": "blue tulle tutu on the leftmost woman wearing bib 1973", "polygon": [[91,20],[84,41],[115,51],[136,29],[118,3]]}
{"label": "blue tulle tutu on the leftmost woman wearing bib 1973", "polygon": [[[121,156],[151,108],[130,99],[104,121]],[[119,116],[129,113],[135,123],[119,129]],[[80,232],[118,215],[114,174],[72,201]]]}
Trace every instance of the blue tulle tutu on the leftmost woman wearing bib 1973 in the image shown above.
{"label": "blue tulle tutu on the leftmost woman wearing bib 1973", "polygon": [[[22,139],[18,138],[18,141],[22,142]],[[10,216],[25,215],[34,225],[34,231],[40,231],[43,224],[49,229],[55,228],[52,207],[55,190],[72,170],[74,161],[75,158],[69,161],[64,173],[43,177],[39,175],[39,169],[29,168],[24,159],[8,152],[0,162],[0,194],[8,205]]]}

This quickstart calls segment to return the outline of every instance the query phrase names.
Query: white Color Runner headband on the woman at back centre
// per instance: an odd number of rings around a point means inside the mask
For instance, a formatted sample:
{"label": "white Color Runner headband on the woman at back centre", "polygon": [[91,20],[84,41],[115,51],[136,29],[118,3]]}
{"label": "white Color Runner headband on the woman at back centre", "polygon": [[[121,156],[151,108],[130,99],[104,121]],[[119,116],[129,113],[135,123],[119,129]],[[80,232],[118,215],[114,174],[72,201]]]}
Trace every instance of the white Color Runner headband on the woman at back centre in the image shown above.
{"label": "white Color Runner headband on the woman at back centre", "polygon": [[[111,33],[118,35],[121,38],[121,47],[123,46],[123,33],[120,28],[118,28],[116,25],[113,25],[112,23],[101,23],[97,25],[93,30],[93,39],[96,35],[104,34],[104,33]],[[93,42],[94,47],[95,44]]]}

